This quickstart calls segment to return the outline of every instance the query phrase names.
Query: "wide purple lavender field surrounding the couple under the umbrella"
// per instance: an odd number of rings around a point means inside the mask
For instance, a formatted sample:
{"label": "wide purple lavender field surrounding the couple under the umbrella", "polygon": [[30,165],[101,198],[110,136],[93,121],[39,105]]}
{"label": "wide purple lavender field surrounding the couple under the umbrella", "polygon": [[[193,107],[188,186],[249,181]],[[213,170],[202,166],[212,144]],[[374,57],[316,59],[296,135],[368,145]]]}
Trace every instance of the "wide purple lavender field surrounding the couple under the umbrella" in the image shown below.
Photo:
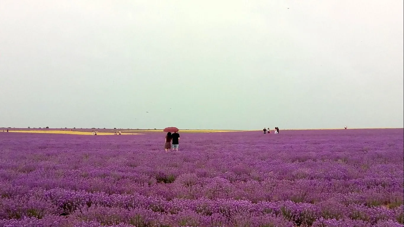
{"label": "wide purple lavender field surrounding the couple under the umbrella", "polygon": [[0,132],[0,226],[403,226],[403,137]]}

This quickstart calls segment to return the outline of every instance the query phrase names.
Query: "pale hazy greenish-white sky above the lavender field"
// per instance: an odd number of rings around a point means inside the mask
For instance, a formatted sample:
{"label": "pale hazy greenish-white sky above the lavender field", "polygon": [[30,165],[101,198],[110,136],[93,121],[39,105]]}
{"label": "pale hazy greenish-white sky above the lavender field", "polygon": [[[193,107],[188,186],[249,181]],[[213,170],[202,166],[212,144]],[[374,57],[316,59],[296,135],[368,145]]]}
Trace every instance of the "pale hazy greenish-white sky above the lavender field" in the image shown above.
{"label": "pale hazy greenish-white sky above the lavender field", "polygon": [[402,0],[1,0],[0,127],[403,127]]}

